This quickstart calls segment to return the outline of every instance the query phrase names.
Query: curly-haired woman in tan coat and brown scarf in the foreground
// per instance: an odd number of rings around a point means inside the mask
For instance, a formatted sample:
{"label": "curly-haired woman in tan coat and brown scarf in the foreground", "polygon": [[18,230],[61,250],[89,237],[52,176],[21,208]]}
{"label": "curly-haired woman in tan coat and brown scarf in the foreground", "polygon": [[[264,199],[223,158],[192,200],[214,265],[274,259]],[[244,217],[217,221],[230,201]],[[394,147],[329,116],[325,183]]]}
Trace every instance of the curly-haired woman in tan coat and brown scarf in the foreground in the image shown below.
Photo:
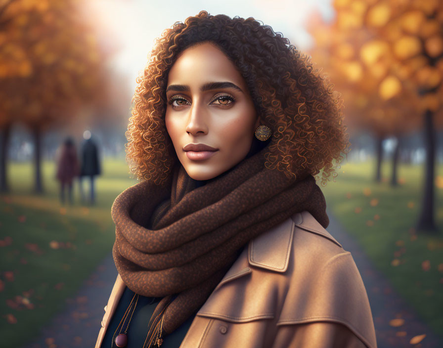
{"label": "curly-haired woman in tan coat and brown scarf in the foreground", "polygon": [[114,202],[119,272],[96,347],[376,347],[323,184],[341,103],[253,18],[202,11],[158,39],[127,136],[142,181]]}

